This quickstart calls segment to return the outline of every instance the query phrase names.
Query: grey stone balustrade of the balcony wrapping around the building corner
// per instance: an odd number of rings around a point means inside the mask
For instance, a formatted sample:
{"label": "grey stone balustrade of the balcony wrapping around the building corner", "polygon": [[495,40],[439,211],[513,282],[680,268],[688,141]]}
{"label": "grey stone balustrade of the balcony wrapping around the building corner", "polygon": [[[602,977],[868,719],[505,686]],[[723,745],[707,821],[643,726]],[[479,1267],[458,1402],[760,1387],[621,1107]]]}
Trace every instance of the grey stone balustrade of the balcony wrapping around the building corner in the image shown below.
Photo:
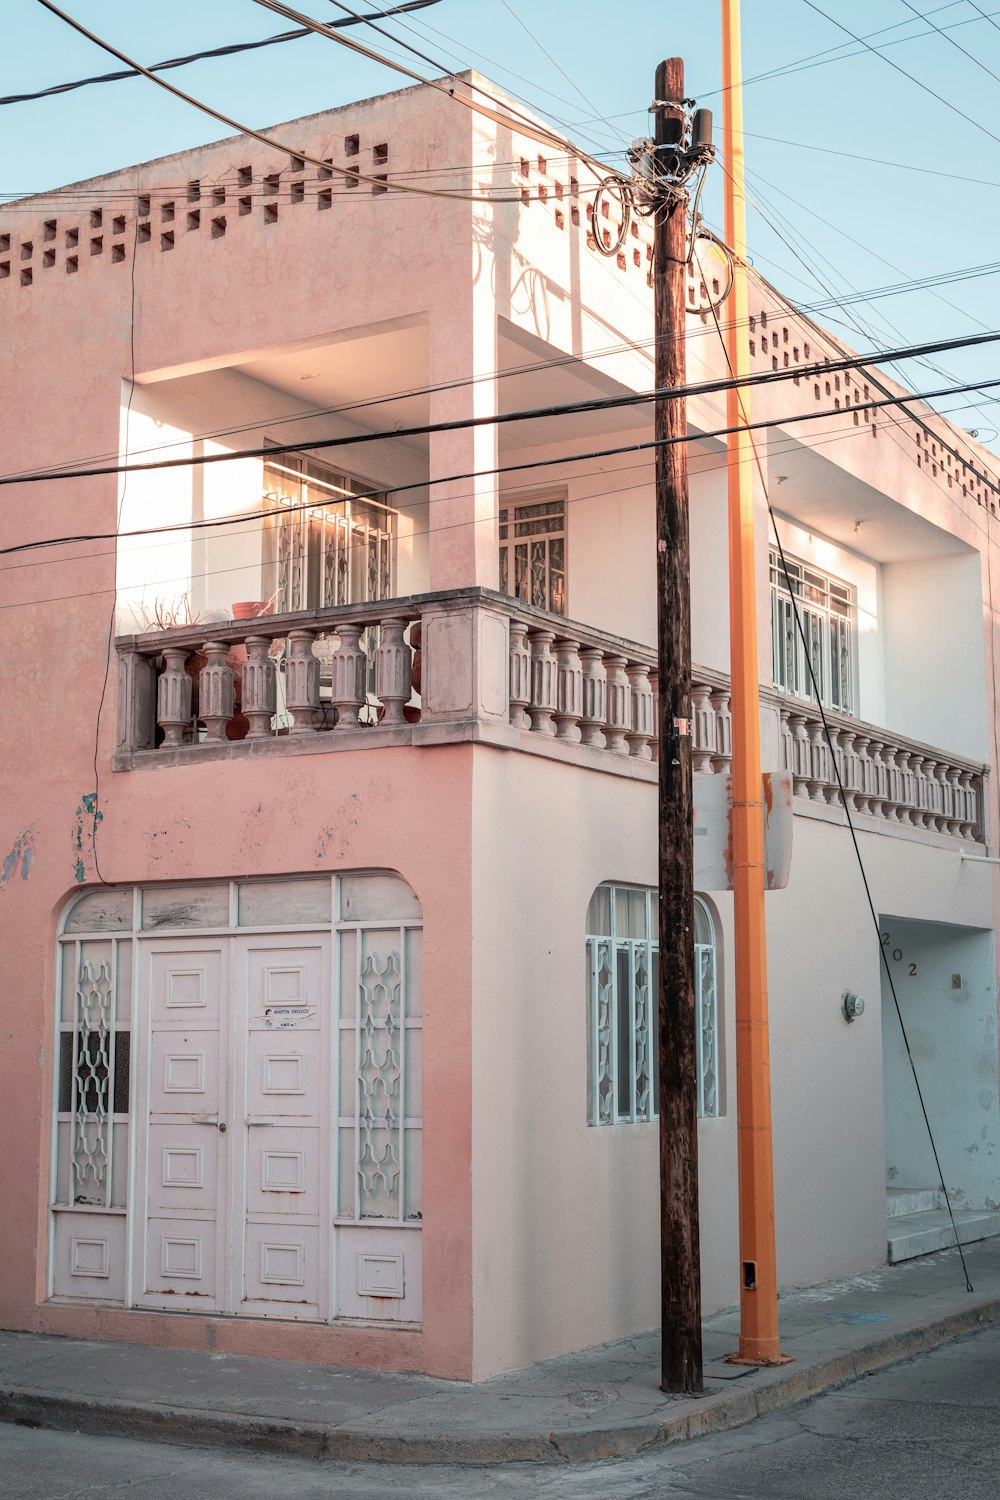
{"label": "grey stone balustrade of the balcony wrapping around the building corner", "polygon": [[[480,741],[655,782],[655,652],[471,588],[123,636],[118,771]],[[988,768],[760,694],[765,765],[798,810],[984,842]],[[694,770],[732,760],[729,678],[694,668]]]}

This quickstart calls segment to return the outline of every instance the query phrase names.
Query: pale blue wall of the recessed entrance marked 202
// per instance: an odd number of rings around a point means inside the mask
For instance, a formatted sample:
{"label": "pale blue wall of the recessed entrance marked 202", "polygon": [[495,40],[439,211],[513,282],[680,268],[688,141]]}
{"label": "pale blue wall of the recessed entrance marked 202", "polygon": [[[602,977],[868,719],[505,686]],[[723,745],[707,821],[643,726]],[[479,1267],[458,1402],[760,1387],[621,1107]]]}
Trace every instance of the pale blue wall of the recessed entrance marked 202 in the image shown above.
{"label": "pale blue wall of the recessed entrance marked 202", "polygon": [[[882,927],[948,1191],[963,1208],[997,1208],[1000,1108],[993,933],[898,916],[883,916]],[[955,975],[958,988],[952,984]],[[937,1167],[885,974],[882,1032],[889,1185],[936,1188]]]}

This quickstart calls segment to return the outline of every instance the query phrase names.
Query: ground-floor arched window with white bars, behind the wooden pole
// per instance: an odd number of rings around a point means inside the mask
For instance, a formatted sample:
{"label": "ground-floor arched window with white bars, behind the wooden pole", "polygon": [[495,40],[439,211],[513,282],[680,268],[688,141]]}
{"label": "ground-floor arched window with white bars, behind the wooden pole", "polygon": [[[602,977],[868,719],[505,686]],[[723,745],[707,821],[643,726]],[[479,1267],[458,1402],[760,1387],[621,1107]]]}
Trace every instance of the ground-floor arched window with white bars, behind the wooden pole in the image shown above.
{"label": "ground-floor arched window with white bars, behind the wooden pole", "polygon": [[[660,944],[657,891],[598,885],[586,914],[588,1119],[657,1119]],[[715,926],[694,900],[699,1116],[720,1113]]]}

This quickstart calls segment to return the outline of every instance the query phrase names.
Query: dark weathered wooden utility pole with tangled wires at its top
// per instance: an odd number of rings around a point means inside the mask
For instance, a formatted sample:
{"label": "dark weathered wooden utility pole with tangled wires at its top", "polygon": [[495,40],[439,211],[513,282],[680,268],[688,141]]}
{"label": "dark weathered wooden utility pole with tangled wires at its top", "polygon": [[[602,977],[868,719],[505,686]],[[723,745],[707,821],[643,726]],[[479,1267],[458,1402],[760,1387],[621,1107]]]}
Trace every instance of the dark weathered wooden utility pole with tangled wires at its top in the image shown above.
{"label": "dark weathered wooden utility pole with tangled wires at its top", "polygon": [[[687,192],[664,186],[684,148],[684,63],[657,68],[658,207],[654,314],[658,390],[685,384]],[[660,658],[660,1276],[663,1390],[702,1390],[702,1269],[694,1016],[694,828],[691,808],[691,567],[687,402],[655,404],[657,640]],[[681,441],[676,441],[676,440]]]}

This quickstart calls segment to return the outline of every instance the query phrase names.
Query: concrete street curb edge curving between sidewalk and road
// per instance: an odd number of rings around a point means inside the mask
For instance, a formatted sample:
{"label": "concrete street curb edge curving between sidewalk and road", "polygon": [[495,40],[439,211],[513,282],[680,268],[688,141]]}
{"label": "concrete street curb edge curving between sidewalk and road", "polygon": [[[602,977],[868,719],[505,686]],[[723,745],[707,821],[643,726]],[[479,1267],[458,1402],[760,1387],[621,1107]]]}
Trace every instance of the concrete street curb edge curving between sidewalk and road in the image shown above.
{"label": "concrete street curb edge curving between sidewalk and road", "polygon": [[562,1428],[535,1432],[403,1434],[376,1430],[351,1431],[324,1422],[295,1422],[279,1416],[240,1412],[198,1412],[151,1401],[79,1396],[70,1392],[0,1389],[0,1420],[99,1437],[145,1438],[189,1448],[222,1448],[295,1458],[385,1464],[513,1464],[594,1462],[634,1458],[651,1448],[706,1437],[745,1426],[759,1416],[808,1401],[850,1380],[885,1370],[964,1334],[1000,1323],[1000,1298],[961,1312],[886,1334],[808,1365],[789,1365],[759,1389],[738,1389],[721,1396],[684,1401],[661,1418],[636,1418],[601,1428]]}

